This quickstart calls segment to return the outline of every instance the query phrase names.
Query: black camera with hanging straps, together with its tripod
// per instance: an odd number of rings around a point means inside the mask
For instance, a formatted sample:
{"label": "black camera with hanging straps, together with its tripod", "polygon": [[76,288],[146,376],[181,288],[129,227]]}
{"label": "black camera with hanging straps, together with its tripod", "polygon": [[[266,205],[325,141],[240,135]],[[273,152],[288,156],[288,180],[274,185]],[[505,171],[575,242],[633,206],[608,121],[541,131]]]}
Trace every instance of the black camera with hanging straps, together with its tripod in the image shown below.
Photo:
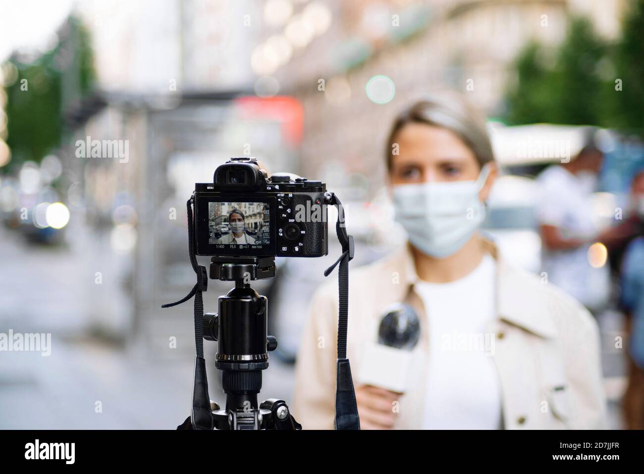
{"label": "black camera with hanging straps, together with its tripod", "polygon": [[[336,428],[359,430],[360,419],[349,360],[348,263],[354,240],[346,233],[342,203],[321,181],[286,174],[268,176],[254,158],[231,158],[214,171],[213,183],[196,183],[186,202],[188,252],[196,285],[170,308],[194,298],[193,407],[180,430],[301,430],[283,400],[258,404],[261,371],[277,339],[267,336],[268,299],[251,280],[273,278],[275,257],[321,257],[328,253],[327,204],[337,207],[337,239],[342,254],[326,271],[338,269]],[[218,312],[204,314],[202,293],[208,273],[196,255],[212,256],[210,278],[234,281],[218,299]],[[204,339],[217,341],[215,366],[222,370],[225,408],[209,400]]]}

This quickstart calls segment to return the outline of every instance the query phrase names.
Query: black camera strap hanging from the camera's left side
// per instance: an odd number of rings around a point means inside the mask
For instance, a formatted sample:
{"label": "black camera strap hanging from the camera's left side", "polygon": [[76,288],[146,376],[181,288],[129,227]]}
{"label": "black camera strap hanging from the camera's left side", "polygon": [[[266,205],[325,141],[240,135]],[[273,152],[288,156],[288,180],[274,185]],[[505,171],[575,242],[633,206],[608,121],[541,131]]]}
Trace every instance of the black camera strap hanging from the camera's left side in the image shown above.
{"label": "black camera strap hanging from the camera's left side", "polygon": [[[203,265],[198,265],[194,256],[194,226],[193,226],[193,205],[194,196],[190,196],[187,202],[188,211],[188,253],[193,270],[197,274],[197,283],[184,298],[175,303],[162,305],[162,308],[170,308],[185,303],[194,296],[194,343],[196,345],[196,356],[194,357],[194,388],[193,388],[193,409],[190,413],[191,427],[194,430],[212,430],[214,427],[213,412],[210,406],[210,395],[208,394],[208,379],[205,372],[204,359],[204,299],[202,292],[208,289],[208,272]],[[187,421],[187,420],[186,420]],[[186,423],[179,426],[184,429]]]}

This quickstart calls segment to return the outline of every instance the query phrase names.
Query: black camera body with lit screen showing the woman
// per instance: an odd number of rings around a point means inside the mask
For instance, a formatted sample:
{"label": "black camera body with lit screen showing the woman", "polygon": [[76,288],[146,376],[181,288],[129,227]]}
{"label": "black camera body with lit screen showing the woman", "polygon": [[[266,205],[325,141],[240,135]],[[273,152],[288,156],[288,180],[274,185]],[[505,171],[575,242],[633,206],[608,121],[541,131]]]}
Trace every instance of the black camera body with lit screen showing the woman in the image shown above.
{"label": "black camera body with lit screen showing the woman", "polygon": [[321,181],[266,176],[255,158],[231,158],[212,184],[194,185],[196,254],[325,256],[326,191]]}

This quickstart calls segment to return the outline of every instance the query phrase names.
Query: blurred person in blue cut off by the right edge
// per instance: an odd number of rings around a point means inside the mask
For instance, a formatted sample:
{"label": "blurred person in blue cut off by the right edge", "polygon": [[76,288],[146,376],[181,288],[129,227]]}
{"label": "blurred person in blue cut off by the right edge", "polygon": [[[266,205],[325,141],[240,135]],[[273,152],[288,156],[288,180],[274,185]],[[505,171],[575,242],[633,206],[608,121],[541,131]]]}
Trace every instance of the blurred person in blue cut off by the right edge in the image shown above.
{"label": "blurred person in blue cut off by the right edge", "polygon": [[[623,224],[639,229],[621,260],[621,308],[627,318],[629,383],[622,400],[626,427],[644,430],[644,171],[632,182],[632,213]],[[638,227],[639,226],[639,227]],[[629,229],[625,229],[625,232]]]}

